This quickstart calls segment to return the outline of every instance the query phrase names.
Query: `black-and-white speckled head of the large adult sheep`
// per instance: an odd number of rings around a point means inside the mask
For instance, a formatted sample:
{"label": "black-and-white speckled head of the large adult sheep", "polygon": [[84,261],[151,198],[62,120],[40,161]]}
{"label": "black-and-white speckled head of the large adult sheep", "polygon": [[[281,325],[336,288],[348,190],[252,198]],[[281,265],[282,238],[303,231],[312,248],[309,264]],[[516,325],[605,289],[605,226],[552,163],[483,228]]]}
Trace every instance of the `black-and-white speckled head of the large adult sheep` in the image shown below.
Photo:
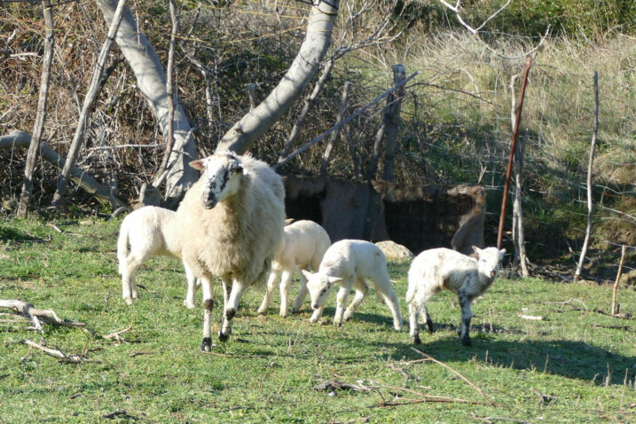
{"label": "black-and-white speckled head of the large adult sheep", "polygon": [[202,172],[205,185],[201,192],[203,208],[211,209],[219,201],[239,191],[243,166],[232,153],[215,153],[199,161],[191,161],[190,166]]}

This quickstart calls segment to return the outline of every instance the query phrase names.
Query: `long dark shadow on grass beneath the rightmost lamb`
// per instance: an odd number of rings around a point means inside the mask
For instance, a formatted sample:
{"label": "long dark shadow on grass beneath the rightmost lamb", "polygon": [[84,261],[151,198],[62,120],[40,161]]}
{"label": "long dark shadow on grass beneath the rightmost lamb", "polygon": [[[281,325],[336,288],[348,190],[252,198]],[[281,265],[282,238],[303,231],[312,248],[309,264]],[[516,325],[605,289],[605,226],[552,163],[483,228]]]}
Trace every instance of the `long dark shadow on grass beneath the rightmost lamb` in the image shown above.
{"label": "long dark shadow on grass beneath the rightmost lamb", "polygon": [[[427,353],[437,360],[447,362],[480,361],[490,366],[512,368],[538,373],[561,375],[570,379],[592,381],[597,385],[624,384],[625,370],[636,365],[636,357],[627,357],[601,349],[586,342],[569,340],[502,341],[490,334],[471,332],[473,346],[465,348],[454,334],[427,342],[428,334],[421,334],[422,344],[414,345],[408,334],[404,344],[392,344],[396,360],[421,359],[411,348]],[[387,346],[386,343],[378,345]],[[627,380],[633,379],[633,370]]]}

